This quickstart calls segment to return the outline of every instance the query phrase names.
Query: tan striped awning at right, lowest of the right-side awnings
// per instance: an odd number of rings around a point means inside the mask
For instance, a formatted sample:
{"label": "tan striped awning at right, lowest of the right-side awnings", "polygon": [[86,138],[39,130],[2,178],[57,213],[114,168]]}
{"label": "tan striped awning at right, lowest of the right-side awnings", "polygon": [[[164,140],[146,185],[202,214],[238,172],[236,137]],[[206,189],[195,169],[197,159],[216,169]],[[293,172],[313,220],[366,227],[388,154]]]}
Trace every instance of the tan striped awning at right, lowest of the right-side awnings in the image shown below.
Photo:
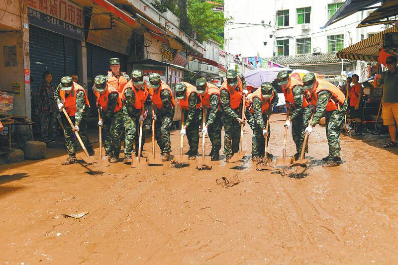
{"label": "tan striped awning at right, lowest of the right-side awnings", "polygon": [[[342,49],[337,52],[336,57],[340,59],[377,62],[380,50],[383,48],[383,34],[388,32],[397,32],[397,28],[391,27],[370,38]],[[398,55],[398,52],[396,51],[389,52]]]}

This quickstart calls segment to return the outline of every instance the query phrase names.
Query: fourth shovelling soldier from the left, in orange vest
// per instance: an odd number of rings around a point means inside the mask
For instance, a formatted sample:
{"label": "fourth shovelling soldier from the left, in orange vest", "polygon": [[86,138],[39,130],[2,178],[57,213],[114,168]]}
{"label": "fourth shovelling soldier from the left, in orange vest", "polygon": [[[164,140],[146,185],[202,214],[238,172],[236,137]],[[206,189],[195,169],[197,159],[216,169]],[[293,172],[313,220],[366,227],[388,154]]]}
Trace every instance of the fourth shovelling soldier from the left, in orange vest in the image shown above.
{"label": "fourth shovelling soldier from the left, in orange vest", "polygon": [[156,106],[155,115],[152,117],[155,120],[156,142],[162,152],[162,161],[168,161],[171,152],[170,127],[173,124],[176,102],[172,90],[160,80],[159,74],[149,76],[149,87],[152,103]]}

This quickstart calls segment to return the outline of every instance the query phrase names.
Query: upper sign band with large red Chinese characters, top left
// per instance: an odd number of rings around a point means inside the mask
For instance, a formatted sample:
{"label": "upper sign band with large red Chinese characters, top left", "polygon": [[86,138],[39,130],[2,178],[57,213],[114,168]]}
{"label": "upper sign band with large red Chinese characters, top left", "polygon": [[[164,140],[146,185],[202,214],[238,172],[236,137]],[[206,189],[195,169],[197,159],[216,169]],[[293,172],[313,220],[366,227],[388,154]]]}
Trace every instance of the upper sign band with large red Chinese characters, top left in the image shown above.
{"label": "upper sign band with large red Chinese characters, top left", "polygon": [[83,28],[83,8],[68,0],[27,0],[27,5],[67,23]]}

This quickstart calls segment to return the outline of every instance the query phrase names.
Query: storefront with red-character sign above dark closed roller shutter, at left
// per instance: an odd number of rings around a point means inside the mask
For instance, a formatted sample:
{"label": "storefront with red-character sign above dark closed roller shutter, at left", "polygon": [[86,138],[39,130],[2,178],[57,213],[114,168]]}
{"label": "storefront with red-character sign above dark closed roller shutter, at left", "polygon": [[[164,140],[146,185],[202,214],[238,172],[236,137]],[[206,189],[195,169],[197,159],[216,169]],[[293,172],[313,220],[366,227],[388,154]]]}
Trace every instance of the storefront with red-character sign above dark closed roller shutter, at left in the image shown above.
{"label": "storefront with red-character sign above dark closed roller shutter, at left", "polygon": [[52,73],[53,84],[78,73],[78,49],[84,40],[83,8],[71,1],[28,0],[31,89],[42,74]]}

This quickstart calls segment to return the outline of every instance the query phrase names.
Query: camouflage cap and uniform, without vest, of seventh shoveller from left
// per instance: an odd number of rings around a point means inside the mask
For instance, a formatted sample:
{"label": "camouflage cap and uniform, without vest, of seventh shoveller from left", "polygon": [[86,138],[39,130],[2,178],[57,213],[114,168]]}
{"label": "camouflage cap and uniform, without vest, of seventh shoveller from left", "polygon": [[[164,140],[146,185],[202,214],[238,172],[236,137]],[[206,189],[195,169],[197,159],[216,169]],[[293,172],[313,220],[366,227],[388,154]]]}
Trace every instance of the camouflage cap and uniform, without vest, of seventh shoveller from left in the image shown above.
{"label": "camouflage cap and uniform, without vest, of seventh shoveller from left", "polygon": [[[227,72],[227,83],[228,79],[237,79],[236,72],[234,70],[228,70]],[[229,83],[234,86],[237,81]],[[238,85],[239,86],[239,85]],[[239,90],[238,86],[235,88]],[[240,141],[240,119],[242,113],[242,103],[239,107],[232,109],[229,92],[226,89],[220,90],[221,106],[222,106],[222,122],[224,125],[224,154],[229,159],[234,153],[239,152],[239,141]]]}

